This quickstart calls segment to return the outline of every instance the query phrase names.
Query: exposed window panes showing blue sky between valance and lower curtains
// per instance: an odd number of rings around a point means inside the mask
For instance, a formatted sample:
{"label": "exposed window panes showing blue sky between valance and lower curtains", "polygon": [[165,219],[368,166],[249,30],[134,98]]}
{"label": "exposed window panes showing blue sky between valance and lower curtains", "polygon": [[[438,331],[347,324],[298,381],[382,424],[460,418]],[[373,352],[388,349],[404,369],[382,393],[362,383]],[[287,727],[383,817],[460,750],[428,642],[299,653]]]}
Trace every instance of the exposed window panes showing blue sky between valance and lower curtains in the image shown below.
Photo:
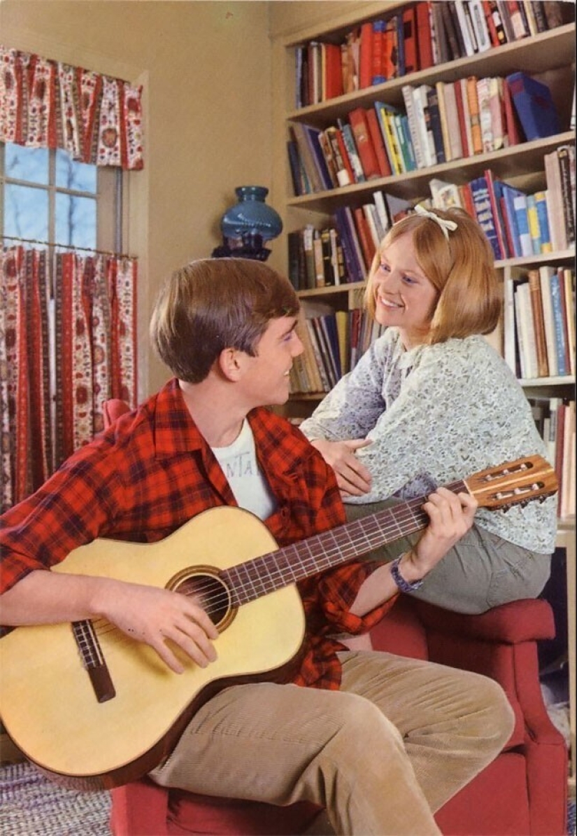
{"label": "exposed window panes showing blue sky between valance and lower curtains", "polygon": [[0,145],[0,232],[65,247],[122,250],[123,173],[73,161],[64,150]]}

